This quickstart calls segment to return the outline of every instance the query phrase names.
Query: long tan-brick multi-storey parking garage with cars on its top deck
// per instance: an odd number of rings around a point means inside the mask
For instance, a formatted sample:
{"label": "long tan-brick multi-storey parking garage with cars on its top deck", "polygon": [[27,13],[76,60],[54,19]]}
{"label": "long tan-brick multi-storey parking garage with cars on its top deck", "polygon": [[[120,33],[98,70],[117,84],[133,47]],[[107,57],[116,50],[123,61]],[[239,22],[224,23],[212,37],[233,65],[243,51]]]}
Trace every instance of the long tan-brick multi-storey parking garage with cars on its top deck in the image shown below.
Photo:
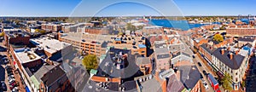
{"label": "long tan-brick multi-storey parking garage with cars on its top deck", "polygon": [[[144,37],[116,37],[109,35],[59,33],[61,42],[71,43],[74,47],[81,49],[90,55],[101,56],[106,54],[108,47],[116,49],[131,49],[132,54],[147,56],[147,47]],[[116,43],[119,42],[119,43]]]}

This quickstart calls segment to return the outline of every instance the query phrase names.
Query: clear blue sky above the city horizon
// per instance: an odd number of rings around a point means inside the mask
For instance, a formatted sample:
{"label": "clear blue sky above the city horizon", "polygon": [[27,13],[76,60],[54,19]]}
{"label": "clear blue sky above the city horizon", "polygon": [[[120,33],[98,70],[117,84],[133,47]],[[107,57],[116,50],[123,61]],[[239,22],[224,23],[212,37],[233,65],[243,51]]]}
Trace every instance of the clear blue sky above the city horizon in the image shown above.
{"label": "clear blue sky above the city horizon", "polygon": [[0,16],[238,15],[256,0],[1,0]]}

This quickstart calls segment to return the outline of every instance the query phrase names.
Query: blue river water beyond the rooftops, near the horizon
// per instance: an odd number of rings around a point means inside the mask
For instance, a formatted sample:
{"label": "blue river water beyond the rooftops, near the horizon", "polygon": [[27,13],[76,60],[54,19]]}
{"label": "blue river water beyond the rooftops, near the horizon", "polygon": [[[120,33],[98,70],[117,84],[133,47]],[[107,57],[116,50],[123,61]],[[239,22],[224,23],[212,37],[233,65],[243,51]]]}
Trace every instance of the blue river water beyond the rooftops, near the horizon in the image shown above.
{"label": "blue river water beyond the rooftops, near the horizon", "polygon": [[208,25],[208,24],[189,24],[187,20],[149,20],[148,24],[153,26],[164,26],[164,27],[170,27],[175,29],[181,29],[183,31],[188,31],[189,29],[192,29],[195,27]]}

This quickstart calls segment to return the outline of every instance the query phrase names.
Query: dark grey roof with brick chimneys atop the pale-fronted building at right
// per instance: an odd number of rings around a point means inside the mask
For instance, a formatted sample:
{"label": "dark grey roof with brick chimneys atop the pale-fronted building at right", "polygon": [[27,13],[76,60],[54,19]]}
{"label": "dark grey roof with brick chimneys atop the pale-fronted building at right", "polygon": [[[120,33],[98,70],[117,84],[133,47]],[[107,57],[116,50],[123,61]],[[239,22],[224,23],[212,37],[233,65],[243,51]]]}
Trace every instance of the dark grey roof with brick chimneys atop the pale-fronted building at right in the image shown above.
{"label": "dark grey roof with brick chimneys atop the pale-fronted building at right", "polygon": [[212,55],[218,58],[221,62],[223,62],[226,66],[229,66],[231,69],[238,69],[241,66],[241,62],[245,59],[245,56],[233,54],[233,59],[230,60],[230,51],[225,50],[224,55],[221,54],[221,49],[216,49]]}

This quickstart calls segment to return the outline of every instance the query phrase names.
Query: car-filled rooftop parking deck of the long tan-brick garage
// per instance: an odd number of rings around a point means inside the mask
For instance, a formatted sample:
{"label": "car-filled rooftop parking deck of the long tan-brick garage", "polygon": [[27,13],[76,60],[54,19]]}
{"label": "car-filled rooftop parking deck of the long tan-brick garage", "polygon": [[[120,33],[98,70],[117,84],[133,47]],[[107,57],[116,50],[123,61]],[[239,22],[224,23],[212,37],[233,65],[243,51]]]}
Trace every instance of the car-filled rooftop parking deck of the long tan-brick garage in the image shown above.
{"label": "car-filled rooftop parking deck of the long tan-brick garage", "polygon": [[[108,47],[108,46],[114,46],[118,49],[133,49],[133,46],[136,46],[138,48],[146,48],[145,45],[142,43],[145,43],[145,38],[143,37],[117,37],[117,36],[111,36],[111,35],[97,35],[97,34],[83,34],[81,32],[69,32],[69,33],[63,33],[61,35],[62,38],[77,41],[80,43],[92,43],[95,42],[95,44],[100,44],[102,47]],[[125,42],[120,44],[114,44],[113,41],[116,41],[115,39]],[[128,44],[135,42],[135,45]],[[104,44],[106,43],[106,44]],[[106,45],[106,46],[103,46]]]}

